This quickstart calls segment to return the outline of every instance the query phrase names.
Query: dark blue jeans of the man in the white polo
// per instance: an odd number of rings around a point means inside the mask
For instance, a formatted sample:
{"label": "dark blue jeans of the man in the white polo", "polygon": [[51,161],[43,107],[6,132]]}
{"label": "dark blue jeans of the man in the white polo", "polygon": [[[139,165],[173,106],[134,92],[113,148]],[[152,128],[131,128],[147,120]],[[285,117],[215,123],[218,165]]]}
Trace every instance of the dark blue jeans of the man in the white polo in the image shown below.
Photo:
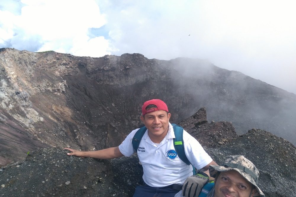
{"label": "dark blue jeans of the man in the white polo", "polygon": [[138,185],[133,197],[174,197],[179,191],[170,187],[154,188],[149,185]]}

